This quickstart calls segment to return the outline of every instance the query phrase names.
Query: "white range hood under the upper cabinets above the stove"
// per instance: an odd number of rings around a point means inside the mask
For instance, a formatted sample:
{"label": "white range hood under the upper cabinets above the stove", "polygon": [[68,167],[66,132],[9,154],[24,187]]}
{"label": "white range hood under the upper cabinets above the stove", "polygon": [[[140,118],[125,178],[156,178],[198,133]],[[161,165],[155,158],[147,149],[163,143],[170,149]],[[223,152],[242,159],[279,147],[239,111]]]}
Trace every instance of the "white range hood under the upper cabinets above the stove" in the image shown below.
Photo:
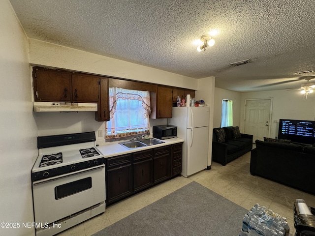
{"label": "white range hood under the upper cabinets above the stove", "polygon": [[97,112],[97,103],[33,102],[34,112]]}

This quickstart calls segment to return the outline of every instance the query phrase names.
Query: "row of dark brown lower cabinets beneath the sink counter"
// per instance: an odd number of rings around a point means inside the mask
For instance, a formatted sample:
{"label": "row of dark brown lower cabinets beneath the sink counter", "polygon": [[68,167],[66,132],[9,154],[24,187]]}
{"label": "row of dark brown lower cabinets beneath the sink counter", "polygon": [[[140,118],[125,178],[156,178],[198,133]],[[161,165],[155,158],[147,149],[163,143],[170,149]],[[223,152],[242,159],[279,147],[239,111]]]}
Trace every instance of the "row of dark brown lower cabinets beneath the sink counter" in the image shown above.
{"label": "row of dark brown lower cabinets beneath the sink counter", "polygon": [[181,148],[182,143],[106,158],[106,205],[180,175]]}

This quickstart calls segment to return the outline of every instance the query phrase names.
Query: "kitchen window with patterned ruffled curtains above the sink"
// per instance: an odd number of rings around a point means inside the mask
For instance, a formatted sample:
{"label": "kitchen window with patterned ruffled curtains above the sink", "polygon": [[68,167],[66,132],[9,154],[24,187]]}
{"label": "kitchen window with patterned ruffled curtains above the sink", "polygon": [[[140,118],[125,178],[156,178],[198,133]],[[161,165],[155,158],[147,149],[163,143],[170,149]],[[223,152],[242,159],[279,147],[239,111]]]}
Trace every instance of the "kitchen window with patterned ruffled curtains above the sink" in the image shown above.
{"label": "kitchen window with patterned ruffled curtains above the sink", "polygon": [[149,91],[109,88],[109,111],[106,142],[131,139],[149,133]]}

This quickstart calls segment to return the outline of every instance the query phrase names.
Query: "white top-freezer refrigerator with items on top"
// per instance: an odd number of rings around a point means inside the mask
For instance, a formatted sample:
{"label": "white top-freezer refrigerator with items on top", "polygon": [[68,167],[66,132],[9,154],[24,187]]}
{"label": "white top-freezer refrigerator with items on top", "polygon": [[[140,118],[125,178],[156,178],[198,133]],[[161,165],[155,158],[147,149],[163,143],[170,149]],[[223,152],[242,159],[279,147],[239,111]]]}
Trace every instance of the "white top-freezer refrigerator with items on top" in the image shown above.
{"label": "white top-freezer refrigerator with items on top", "polygon": [[177,137],[184,139],[182,176],[207,168],[209,146],[209,107],[173,107],[168,123],[177,126]]}

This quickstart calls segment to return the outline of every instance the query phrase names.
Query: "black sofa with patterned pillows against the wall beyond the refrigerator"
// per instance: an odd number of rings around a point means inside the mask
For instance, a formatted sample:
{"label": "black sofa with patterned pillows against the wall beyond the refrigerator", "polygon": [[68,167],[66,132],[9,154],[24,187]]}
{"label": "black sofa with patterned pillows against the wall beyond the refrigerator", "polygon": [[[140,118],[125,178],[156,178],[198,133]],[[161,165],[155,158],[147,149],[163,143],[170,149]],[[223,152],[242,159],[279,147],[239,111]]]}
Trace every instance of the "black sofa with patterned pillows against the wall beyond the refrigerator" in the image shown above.
{"label": "black sofa with patterned pillows against the wall beyond the refrigerator", "polygon": [[240,133],[238,126],[213,129],[213,161],[225,166],[250,150],[252,150],[252,135]]}

